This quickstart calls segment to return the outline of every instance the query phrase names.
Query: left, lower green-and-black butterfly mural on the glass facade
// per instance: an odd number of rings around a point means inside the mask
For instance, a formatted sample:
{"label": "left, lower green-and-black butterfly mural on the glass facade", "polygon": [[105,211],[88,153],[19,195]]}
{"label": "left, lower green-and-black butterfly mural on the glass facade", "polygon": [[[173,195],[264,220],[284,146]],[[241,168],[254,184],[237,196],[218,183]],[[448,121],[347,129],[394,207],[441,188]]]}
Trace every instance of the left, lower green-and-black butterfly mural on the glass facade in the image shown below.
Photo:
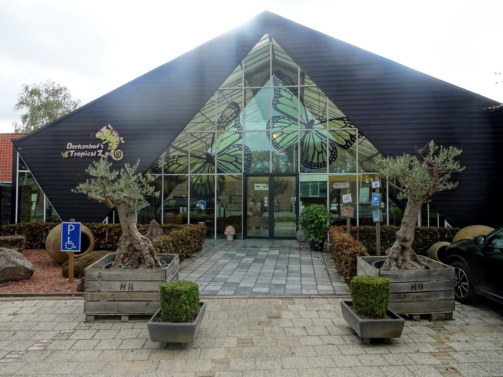
{"label": "left, lower green-and-black butterfly mural on the glass facade", "polygon": [[[235,102],[230,102],[217,121],[217,132],[212,133],[210,141],[200,139],[197,143],[206,144],[197,148],[191,147],[190,157],[190,193],[197,199],[210,200],[215,197],[215,174],[228,174],[235,179],[242,179],[242,175],[251,166],[251,151],[241,143],[242,126],[239,119],[240,108]],[[227,132],[218,132],[227,131]],[[193,134],[194,135],[194,134]],[[192,143],[194,144],[194,142]],[[164,165],[166,174],[187,173],[189,166],[188,155],[174,155],[158,159],[151,167],[153,173],[160,173]],[[171,178],[176,183],[187,179],[184,175]],[[225,180],[225,176],[219,177]],[[222,195],[219,181],[216,182],[216,196]]]}

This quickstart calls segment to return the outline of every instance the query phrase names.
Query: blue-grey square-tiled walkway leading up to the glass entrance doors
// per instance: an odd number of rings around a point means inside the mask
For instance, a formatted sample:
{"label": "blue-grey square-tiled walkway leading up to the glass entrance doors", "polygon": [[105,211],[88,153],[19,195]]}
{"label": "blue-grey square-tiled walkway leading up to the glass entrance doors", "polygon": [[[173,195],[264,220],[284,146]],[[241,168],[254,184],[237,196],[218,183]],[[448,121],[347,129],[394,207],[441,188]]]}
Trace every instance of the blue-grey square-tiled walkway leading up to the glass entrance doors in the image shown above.
{"label": "blue-grey square-tiled walkway leading up to the glass entrance doors", "polygon": [[202,295],[349,294],[328,248],[311,251],[297,240],[206,240],[180,263],[180,279]]}

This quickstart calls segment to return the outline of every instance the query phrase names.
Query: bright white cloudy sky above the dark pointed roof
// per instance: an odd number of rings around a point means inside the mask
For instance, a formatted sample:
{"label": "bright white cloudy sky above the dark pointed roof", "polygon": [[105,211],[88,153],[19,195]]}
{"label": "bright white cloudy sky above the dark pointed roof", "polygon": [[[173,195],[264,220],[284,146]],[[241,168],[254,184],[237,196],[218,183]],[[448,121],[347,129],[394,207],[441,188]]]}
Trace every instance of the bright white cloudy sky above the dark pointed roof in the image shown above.
{"label": "bright white cloudy sky above the dark pointed roof", "polygon": [[0,0],[0,132],[22,84],[84,105],[264,10],[503,102],[501,0]]}

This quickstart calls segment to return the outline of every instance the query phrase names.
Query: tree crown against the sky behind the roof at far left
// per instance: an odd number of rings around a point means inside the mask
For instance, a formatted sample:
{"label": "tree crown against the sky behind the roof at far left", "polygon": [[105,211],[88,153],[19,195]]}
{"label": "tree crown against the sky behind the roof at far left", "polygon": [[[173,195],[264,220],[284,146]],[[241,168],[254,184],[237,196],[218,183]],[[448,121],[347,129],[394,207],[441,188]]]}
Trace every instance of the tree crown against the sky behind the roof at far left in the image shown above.
{"label": "tree crown against the sky behind the roof at far left", "polygon": [[13,111],[26,109],[27,112],[21,115],[21,124],[12,124],[14,132],[32,132],[75,110],[79,105],[80,100],[73,101],[66,86],[54,81],[24,84]]}

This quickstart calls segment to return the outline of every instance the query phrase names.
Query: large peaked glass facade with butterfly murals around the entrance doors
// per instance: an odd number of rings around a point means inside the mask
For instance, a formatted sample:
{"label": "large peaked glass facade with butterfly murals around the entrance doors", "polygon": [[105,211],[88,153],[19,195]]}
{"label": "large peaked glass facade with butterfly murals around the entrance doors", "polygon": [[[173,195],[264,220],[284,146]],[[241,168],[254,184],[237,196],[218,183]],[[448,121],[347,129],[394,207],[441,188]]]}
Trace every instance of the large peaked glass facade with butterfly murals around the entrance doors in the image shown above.
{"label": "large peaked glass facade with butterfly murals around the entrance doors", "polygon": [[[358,203],[363,191],[357,182],[378,170],[380,158],[337,104],[265,35],[152,166],[162,175],[162,198],[147,217],[204,222],[209,237],[223,238],[226,224],[243,225],[243,177],[264,173],[297,174],[299,198],[288,200],[333,205],[340,218],[341,193],[331,184],[348,179]],[[295,206],[284,207],[291,216]]]}

